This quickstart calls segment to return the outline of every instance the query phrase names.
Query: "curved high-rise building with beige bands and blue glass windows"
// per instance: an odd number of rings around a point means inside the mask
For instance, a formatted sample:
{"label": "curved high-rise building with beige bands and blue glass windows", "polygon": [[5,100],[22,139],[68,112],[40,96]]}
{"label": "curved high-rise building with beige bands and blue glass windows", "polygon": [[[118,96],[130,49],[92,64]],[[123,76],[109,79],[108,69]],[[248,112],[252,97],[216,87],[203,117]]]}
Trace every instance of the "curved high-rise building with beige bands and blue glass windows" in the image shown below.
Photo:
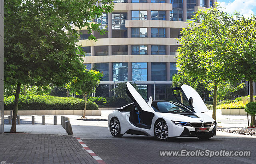
{"label": "curved high-rise building with beige bands and blue glass windows", "polygon": [[177,38],[195,11],[210,8],[216,0],[114,0],[114,10],[102,13],[94,23],[106,28],[105,35],[92,34],[80,41],[88,69],[103,72],[95,96],[113,96],[119,82],[132,81],[155,100],[168,99],[176,70]]}

